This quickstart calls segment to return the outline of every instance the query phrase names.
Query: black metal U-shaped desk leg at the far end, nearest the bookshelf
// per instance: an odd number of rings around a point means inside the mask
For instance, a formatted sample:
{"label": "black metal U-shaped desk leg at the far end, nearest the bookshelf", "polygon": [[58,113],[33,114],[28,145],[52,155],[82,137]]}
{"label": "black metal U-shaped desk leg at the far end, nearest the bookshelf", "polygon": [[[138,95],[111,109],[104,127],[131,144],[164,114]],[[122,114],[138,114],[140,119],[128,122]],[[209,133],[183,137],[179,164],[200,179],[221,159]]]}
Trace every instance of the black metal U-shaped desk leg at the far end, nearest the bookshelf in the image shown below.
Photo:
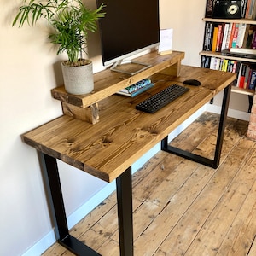
{"label": "black metal U-shaped desk leg at the far end, nearest the bookshelf", "polygon": [[230,91],[231,91],[231,85],[227,86],[224,89],[224,96],[223,96],[223,101],[222,101],[222,108],[221,108],[221,113],[220,113],[220,118],[219,118],[219,125],[218,125],[218,137],[217,137],[217,142],[216,142],[216,148],[215,148],[215,154],[214,154],[214,159],[208,159],[206,157],[203,157],[198,154],[193,154],[190,153],[186,150],[180,149],[180,148],[175,148],[172,147],[168,144],[168,137],[165,137],[161,141],[161,149],[172,153],[172,154],[177,154],[179,156],[182,156],[186,159],[193,160],[195,162],[201,163],[205,166],[210,166],[212,168],[217,168],[219,165],[219,160],[220,160],[220,154],[221,154],[221,149],[222,149],[222,144],[223,144],[223,138],[224,138],[224,129],[226,125],[226,119],[227,119],[227,113],[228,113],[228,108],[229,108],[229,103],[230,103]]}

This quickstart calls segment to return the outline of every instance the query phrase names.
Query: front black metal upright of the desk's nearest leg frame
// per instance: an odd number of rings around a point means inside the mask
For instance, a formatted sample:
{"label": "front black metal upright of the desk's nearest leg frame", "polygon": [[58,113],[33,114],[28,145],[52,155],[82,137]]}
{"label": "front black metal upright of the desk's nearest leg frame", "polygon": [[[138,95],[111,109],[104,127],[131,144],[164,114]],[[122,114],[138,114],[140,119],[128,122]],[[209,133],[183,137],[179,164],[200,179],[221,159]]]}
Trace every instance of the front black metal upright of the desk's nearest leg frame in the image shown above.
{"label": "front black metal upright of the desk's nearest leg frame", "polygon": [[131,166],[117,179],[120,256],[133,255]]}

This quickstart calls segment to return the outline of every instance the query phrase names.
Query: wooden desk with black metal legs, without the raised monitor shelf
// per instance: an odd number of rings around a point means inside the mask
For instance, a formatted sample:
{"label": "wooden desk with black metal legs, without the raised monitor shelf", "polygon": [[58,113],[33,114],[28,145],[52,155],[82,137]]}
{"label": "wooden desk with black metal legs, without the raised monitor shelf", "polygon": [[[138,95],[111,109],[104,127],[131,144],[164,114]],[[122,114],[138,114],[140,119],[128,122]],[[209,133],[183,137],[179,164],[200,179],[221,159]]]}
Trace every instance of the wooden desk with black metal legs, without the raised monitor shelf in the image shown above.
{"label": "wooden desk with black metal legs, without the raised monitor shelf", "polygon": [[[189,92],[159,112],[142,113],[135,109],[138,102],[169,84],[182,84],[184,79],[199,79],[199,87],[188,86]],[[234,73],[197,67],[181,68],[180,76],[155,73],[154,88],[136,98],[111,95],[99,102],[100,122],[92,125],[63,115],[24,134],[23,140],[38,150],[43,173],[49,183],[49,199],[53,201],[53,217],[57,240],[77,255],[99,255],[69,235],[61,183],[56,159],[75,166],[107,182],[116,179],[120,255],[133,255],[131,165],[155,144],[162,142],[166,151],[217,167],[221,153],[225,118]],[[224,90],[218,140],[214,160],[168,148],[167,136],[184,120]]]}

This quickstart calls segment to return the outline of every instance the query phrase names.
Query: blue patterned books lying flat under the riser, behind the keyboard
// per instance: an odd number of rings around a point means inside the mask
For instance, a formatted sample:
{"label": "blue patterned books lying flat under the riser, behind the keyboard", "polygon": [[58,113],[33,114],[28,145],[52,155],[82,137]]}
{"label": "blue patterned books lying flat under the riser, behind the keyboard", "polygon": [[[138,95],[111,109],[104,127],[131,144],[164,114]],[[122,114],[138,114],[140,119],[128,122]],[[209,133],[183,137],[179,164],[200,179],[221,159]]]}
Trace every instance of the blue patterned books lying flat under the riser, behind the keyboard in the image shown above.
{"label": "blue patterned books lying flat under the riser, behind the keyboard", "polygon": [[143,79],[136,84],[132,84],[122,90],[119,90],[117,94],[135,97],[153,86],[154,83],[152,83],[150,79]]}

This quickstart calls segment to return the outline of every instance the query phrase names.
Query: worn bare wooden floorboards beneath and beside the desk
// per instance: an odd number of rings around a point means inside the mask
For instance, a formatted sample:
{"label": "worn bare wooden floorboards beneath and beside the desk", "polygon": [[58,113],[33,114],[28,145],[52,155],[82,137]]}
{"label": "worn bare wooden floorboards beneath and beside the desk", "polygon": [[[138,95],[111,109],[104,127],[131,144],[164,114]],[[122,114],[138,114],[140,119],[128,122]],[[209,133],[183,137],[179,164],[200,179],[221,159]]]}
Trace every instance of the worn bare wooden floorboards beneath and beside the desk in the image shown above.
{"label": "worn bare wooden floorboards beneath and beside the desk", "polygon": [[[204,113],[173,145],[213,156],[218,115]],[[256,255],[256,143],[247,122],[228,119],[217,170],[160,152],[133,176],[134,254]],[[116,195],[71,234],[102,255],[119,255]],[[73,255],[58,244],[46,255]]]}

